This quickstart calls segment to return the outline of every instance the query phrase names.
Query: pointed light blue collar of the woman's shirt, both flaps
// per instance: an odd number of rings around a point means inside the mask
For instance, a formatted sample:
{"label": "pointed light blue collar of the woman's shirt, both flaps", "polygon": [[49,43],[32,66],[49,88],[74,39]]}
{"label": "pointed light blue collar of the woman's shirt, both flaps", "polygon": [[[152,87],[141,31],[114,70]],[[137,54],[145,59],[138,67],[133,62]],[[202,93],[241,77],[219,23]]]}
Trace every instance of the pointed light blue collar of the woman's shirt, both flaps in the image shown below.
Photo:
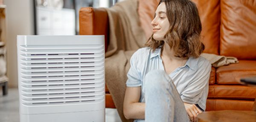
{"label": "pointed light blue collar of the woman's shirt, both flaps", "polygon": [[[156,48],[154,52],[151,50],[150,59],[156,56],[160,58],[160,55],[161,55],[161,48]],[[198,61],[199,61],[199,58],[189,57],[184,67],[187,65],[189,68],[196,71],[198,66]]]}

